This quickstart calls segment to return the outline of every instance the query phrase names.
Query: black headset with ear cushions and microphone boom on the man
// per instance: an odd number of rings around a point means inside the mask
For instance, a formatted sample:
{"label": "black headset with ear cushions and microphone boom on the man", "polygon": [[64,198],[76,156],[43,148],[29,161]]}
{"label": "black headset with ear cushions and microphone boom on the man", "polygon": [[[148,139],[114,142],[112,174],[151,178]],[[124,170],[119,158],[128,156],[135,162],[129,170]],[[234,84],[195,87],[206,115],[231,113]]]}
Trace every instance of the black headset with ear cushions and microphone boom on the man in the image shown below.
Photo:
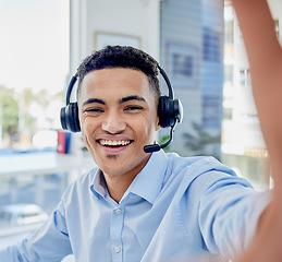
{"label": "black headset with ear cushions and microphone boom on the man", "polygon": [[[168,146],[172,141],[172,134],[175,129],[176,123],[181,123],[183,119],[183,107],[180,99],[174,99],[173,88],[171,86],[170,80],[164,72],[164,70],[158,64],[160,74],[164,79],[167,86],[169,88],[169,96],[164,95],[159,98],[158,105],[158,117],[159,124],[162,128],[171,128],[170,139],[164,144],[151,144],[145,145],[144,151],[146,153],[152,153],[160,151],[161,148]],[[78,106],[77,102],[71,103],[71,94],[76,83],[78,74],[76,73],[68,87],[66,92],[66,106],[61,108],[61,124],[63,130],[69,130],[71,132],[79,132],[81,124],[78,119]]]}

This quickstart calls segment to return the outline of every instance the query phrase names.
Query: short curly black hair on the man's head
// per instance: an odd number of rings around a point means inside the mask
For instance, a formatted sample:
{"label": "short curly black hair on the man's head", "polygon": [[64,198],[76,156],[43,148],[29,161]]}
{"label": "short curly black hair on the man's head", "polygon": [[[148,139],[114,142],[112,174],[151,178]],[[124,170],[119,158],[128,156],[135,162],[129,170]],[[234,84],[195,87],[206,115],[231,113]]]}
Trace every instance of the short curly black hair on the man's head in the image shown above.
{"label": "short curly black hair on the man's head", "polygon": [[148,53],[130,46],[107,46],[106,48],[94,51],[90,56],[86,57],[77,69],[77,97],[79,95],[84,76],[87,73],[94,70],[113,68],[128,68],[145,73],[152,91],[155,92],[156,100],[158,102],[161,96],[158,80],[158,62]]}

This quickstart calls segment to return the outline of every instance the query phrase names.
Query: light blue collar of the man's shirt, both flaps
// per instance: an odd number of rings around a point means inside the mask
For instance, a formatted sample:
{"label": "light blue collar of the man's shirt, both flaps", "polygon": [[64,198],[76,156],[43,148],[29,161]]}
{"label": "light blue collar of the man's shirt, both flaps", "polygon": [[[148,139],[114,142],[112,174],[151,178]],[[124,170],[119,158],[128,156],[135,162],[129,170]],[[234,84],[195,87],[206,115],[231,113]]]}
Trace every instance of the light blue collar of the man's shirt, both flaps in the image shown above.
{"label": "light blue collar of the man's shirt, both flaps", "polygon": [[[168,157],[165,153],[162,150],[152,153],[148,163],[135,177],[122,199],[125,199],[128,193],[134,193],[152,204],[162,188],[167,167]],[[102,198],[107,196],[108,189],[100,169],[96,171],[90,189]]]}

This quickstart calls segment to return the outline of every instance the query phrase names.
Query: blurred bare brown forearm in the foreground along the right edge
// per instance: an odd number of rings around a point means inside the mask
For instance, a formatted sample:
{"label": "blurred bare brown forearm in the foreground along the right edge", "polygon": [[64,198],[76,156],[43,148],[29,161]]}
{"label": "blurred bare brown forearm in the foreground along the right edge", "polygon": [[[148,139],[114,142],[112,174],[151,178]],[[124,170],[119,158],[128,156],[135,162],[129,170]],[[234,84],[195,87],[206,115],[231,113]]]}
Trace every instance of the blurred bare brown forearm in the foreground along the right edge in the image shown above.
{"label": "blurred bare brown forearm in the foreground along the right edge", "polygon": [[282,261],[282,49],[267,0],[233,0],[243,33],[253,93],[274,179],[273,199],[256,237],[237,262]]}

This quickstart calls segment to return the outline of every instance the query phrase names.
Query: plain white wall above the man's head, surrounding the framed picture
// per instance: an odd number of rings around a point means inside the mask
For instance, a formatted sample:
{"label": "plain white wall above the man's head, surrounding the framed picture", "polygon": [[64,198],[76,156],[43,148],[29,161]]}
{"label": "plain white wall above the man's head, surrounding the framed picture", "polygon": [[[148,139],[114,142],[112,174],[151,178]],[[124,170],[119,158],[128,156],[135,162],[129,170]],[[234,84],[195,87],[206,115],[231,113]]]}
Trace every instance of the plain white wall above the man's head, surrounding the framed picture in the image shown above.
{"label": "plain white wall above the man's head, surrounding the framed picture", "polygon": [[159,1],[70,0],[70,73],[96,48],[98,32],[137,37],[140,49],[158,60]]}

